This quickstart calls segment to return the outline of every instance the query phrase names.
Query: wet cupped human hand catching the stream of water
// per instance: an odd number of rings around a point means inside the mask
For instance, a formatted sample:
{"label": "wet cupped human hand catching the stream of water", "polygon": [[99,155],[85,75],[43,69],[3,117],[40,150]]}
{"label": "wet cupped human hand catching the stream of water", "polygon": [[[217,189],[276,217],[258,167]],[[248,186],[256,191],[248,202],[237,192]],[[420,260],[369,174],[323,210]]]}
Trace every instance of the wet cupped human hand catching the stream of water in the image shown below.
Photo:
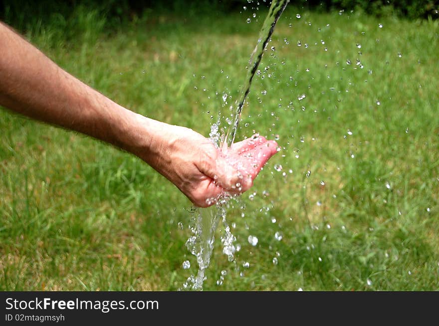
{"label": "wet cupped human hand catching the stream of water", "polygon": [[163,123],[161,130],[152,141],[154,155],[144,160],[199,207],[215,204],[222,195],[248,190],[277,151],[275,141],[259,135],[220,151],[192,129]]}

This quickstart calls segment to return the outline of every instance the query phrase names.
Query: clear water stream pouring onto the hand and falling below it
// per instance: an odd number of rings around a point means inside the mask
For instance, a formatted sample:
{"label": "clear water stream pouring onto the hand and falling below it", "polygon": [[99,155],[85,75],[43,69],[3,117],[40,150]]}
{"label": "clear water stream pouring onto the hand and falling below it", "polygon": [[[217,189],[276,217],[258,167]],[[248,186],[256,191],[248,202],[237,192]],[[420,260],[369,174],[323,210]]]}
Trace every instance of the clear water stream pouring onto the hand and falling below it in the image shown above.
{"label": "clear water stream pouring onto the hand and falling below it", "polygon": [[[242,84],[239,95],[235,101],[234,106],[230,109],[233,112],[231,123],[227,129],[227,132],[222,137],[215,137],[218,134],[218,125],[214,124],[211,130],[211,138],[214,141],[220,142],[217,145],[222,151],[226,151],[227,148],[233,144],[236,130],[239,124],[241,111],[250,92],[251,82],[254,74],[257,71],[259,63],[262,59],[263,52],[274,30],[280,15],[287,5],[288,0],[273,0],[268,11],[268,15],[265,18],[262,28],[259,32],[259,38],[256,46],[251,53],[250,60],[248,62],[247,74],[244,83]],[[222,219],[225,234],[221,236],[221,243],[223,246],[223,253],[228,256],[229,261],[233,261],[233,254],[236,251],[236,247],[233,242],[234,236],[230,232],[230,228],[226,223],[226,205],[227,198],[222,198],[215,206],[211,206],[207,209],[200,209],[193,211],[192,220],[192,233],[193,235],[186,242],[186,246],[189,251],[197,257],[197,263],[199,270],[197,276],[191,276],[184,284],[184,288],[188,288],[192,284],[193,290],[202,290],[203,282],[205,280],[205,271],[209,267],[210,258],[214,248],[215,231],[217,229],[219,219]]]}

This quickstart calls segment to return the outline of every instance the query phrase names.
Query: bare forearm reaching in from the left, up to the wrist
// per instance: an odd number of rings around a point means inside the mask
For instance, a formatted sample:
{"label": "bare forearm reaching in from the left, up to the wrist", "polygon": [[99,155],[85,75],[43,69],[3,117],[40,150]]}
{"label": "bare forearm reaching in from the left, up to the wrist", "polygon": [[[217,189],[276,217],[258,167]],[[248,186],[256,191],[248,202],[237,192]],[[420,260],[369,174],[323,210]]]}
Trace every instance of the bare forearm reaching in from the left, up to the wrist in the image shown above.
{"label": "bare forearm reaching in from the left, up to the wrist", "polygon": [[131,152],[148,146],[152,133],[145,129],[158,122],[85,85],[1,23],[0,105]]}

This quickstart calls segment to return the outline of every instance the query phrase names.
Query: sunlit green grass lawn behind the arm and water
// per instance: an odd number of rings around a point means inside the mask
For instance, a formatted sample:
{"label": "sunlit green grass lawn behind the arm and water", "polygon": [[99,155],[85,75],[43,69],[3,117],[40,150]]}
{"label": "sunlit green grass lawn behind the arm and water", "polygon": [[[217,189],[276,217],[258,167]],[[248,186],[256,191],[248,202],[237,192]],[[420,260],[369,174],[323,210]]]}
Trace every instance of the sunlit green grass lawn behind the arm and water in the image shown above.
{"label": "sunlit green grass lawn behind the arm and water", "polygon": [[[119,104],[204,135],[229,114],[265,14],[151,14],[109,32],[81,10],[26,36]],[[283,150],[231,203],[241,249],[227,261],[220,224],[205,290],[439,290],[438,32],[287,9],[238,133]],[[0,290],[177,290],[197,272],[190,204],[149,166],[4,109],[0,130]]]}

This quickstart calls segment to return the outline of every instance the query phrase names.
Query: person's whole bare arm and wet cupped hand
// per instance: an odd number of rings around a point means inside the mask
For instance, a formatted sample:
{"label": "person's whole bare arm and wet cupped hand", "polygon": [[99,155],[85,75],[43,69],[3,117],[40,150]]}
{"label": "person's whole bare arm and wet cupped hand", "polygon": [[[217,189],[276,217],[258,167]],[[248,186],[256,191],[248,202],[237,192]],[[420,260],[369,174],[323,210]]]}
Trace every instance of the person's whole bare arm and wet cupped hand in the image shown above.
{"label": "person's whole bare arm and wet cupped hand", "polygon": [[1,22],[0,54],[1,106],[133,153],[196,206],[208,207],[221,194],[248,190],[276,153],[276,142],[261,136],[221,152],[192,129],[125,109],[62,70]]}

